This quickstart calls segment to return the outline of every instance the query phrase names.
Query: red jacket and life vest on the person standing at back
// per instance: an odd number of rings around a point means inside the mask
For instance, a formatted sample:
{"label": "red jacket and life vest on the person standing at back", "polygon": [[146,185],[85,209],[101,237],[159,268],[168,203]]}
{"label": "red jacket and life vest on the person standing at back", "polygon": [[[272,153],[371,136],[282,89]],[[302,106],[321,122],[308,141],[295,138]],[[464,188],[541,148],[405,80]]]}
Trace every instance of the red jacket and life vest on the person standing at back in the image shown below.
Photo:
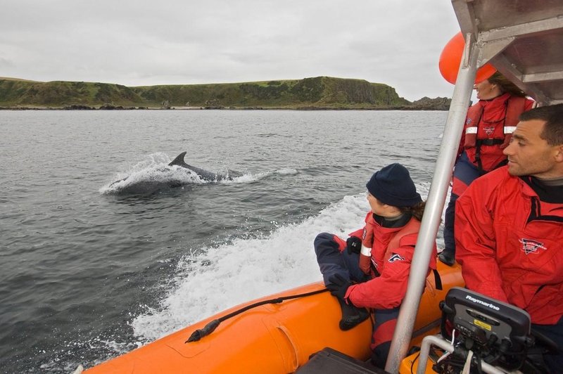
{"label": "red jacket and life vest on the person standing at back", "polygon": [[502,150],[508,146],[519,116],[530,110],[533,101],[510,93],[480,100],[467,110],[465,127],[460,142],[469,160],[483,172],[490,172],[506,160]]}

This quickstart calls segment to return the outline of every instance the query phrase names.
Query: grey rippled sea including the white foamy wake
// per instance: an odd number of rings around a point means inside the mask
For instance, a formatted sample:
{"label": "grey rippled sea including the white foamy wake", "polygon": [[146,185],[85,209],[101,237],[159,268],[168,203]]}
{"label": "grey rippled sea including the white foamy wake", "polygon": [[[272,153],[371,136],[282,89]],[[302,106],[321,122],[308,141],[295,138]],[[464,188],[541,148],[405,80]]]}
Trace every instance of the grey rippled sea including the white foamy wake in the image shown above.
{"label": "grey rippled sea including the white foamy wake", "polygon": [[[0,111],[0,372],[69,373],[320,280],[312,241],[362,227],[373,172],[428,193],[446,115]],[[163,174],[183,151],[242,176]],[[110,186],[127,176],[182,186]]]}

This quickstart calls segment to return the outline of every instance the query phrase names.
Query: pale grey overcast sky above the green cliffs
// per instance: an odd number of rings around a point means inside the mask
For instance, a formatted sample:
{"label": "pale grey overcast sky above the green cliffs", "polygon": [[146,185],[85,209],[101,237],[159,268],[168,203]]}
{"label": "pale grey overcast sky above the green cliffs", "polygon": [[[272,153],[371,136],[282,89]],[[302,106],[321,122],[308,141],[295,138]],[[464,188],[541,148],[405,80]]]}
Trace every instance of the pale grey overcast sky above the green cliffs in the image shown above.
{"label": "pale grey overcast sky above the green cliffs", "polygon": [[126,86],[365,79],[451,97],[450,0],[0,0],[0,77]]}

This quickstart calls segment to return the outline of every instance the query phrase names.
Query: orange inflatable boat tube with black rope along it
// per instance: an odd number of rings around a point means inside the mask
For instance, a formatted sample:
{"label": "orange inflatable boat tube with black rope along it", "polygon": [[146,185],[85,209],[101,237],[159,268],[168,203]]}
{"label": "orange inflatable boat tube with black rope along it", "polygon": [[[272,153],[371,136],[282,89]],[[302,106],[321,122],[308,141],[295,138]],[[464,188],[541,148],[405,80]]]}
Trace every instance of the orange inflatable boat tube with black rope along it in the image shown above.
{"label": "orange inflatable boat tube with black rope along it", "polygon": [[[463,285],[457,265],[439,263],[438,271],[443,290],[431,273],[412,344],[438,331],[439,302],[449,288]],[[324,347],[369,359],[372,321],[342,331],[340,318],[336,298],[322,283],[312,283],[233,307],[84,373],[293,373]],[[210,333],[202,336],[205,329]]]}

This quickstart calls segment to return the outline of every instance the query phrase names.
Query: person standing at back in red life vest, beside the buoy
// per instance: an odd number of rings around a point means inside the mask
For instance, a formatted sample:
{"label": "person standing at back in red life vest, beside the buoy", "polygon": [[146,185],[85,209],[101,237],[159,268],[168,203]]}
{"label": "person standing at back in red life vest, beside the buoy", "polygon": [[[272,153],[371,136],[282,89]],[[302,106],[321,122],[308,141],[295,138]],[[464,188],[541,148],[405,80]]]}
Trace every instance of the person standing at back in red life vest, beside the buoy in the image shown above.
{"label": "person standing at back in red life vest, beside the buoy", "polygon": [[474,89],[479,101],[467,111],[450,202],[445,210],[445,248],[438,255],[441,262],[450,266],[455,262],[455,201],[476,178],[506,164],[502,150],[508,146],[518,116],[533,105],[533,101],[500,72],[475,84]]}

